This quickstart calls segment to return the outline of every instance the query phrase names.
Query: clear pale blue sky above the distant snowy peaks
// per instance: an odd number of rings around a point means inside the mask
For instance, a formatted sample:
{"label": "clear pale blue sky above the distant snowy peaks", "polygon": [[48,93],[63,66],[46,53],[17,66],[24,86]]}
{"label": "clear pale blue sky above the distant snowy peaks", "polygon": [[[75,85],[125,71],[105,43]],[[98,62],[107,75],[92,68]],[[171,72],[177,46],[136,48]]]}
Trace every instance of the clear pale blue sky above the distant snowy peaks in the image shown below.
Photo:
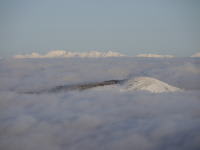
{"label": "clear pale blue sky above the distant snowy peaks", "polygon": [[51,50],[191,56],[198,0],[0,0],[0,56]]}

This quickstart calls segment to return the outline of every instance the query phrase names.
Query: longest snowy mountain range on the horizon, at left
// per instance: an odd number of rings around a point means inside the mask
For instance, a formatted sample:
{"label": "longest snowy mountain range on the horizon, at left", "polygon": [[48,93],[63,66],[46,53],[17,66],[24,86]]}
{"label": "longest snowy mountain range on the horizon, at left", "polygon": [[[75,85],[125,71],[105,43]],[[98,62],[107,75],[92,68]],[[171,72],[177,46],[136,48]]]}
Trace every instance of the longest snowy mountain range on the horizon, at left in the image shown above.
{"label": "longest snowy mountain range on the horizon, at left", "polygon": [[14,58],[22,59],[22,58],[70,58],[70,57],[122,57],[124,54],[118,52],[98,52],[98,51],[90,51],[90,52],[70,52],[64,50],[55,50],[50,51],[47,54],[39,54],[32,53],[26,55],[15,55]]}

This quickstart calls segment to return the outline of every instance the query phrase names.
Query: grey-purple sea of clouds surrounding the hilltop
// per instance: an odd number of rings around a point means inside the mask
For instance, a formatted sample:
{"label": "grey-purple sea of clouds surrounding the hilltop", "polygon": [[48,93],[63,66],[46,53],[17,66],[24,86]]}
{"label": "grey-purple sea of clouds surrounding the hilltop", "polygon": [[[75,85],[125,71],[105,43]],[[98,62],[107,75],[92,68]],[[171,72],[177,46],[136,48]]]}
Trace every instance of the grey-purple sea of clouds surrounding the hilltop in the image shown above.
{"label": "grey-purple sea of clouds surrounding the hilltop", "polygon": [[[148,76],[184,89],[23,91]],[[199,58],[0,59],[2,150],[198,150]]]}

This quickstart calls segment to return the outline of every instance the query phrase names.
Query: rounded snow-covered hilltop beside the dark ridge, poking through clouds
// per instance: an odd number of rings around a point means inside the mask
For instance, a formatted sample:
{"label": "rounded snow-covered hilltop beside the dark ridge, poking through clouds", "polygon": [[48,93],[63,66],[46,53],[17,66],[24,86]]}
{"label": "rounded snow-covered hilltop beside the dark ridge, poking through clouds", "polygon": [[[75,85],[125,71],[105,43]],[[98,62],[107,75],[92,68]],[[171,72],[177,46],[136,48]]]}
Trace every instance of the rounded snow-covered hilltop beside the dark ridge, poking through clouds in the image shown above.
{"label": "rounded snow-covered hilltop beside the dark ridge, poking through clouds", "polygon": [[150,77],[137,77],[128,80],[122,91],[148,91],[151,93],[176,92],[181,89],[171,86],[165,82]]}

